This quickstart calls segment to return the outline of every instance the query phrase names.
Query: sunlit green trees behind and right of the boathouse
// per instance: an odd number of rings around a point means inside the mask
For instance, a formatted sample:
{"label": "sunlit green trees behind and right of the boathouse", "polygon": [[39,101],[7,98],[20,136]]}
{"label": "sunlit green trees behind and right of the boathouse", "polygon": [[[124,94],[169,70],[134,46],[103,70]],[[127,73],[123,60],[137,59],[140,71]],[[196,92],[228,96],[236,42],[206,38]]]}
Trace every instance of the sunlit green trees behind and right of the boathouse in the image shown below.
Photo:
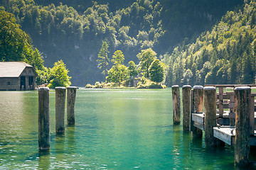
{"label": "sunlit green trees behind and right of the boathouse", "polygon": [[36,84],[47,83],[50,88],[69,86],[68,69],[62,60],[55,62],[53,68],[43,66],[40,52],[33,47],[31,38],[16,23],[14,14],[0,9],[0,62],[26,62],[38,74]]}

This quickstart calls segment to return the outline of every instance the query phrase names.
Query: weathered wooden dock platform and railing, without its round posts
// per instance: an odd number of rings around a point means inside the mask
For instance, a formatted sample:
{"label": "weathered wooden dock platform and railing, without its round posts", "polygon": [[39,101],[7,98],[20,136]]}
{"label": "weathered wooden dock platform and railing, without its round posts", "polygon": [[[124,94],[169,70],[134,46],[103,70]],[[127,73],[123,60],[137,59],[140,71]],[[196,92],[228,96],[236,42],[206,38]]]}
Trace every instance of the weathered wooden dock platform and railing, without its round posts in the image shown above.
{"label": "weathered wooden dock platform and railing, without its round posts", "polygon": [[[218,140],[225,142],[228,145],[234,145],[235,139],[235,87],[240,85],[212,85],[219,89],[217,94],[216,111],[218,127],[213,128],[213,135]],[[256,85],[247,85],[253,86]],[[226,89],[224,92],[223,89]],[[256,93],[251,93],[251,108],[250,108],[250,145],[256,146]],[[225,111],[225,110],[226,111]],[[192,113],[193,125],[196,128],[205,130],[205,115],[204,113]]]}

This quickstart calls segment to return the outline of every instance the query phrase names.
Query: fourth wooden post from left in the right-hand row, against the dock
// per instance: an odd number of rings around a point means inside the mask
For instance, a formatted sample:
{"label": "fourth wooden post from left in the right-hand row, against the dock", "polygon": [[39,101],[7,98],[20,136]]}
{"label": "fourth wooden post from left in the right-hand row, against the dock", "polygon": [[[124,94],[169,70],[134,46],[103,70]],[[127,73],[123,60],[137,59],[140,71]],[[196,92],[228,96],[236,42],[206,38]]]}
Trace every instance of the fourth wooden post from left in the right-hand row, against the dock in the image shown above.
{"label": "fourth wooden post from left in the right-hand row, against the dock", "polygon": [[216,89],[213,86],[203,88],[204,113],[205,113],[205,142],[206,147],[216,145],[213,137],[213,127],[216,126]]}

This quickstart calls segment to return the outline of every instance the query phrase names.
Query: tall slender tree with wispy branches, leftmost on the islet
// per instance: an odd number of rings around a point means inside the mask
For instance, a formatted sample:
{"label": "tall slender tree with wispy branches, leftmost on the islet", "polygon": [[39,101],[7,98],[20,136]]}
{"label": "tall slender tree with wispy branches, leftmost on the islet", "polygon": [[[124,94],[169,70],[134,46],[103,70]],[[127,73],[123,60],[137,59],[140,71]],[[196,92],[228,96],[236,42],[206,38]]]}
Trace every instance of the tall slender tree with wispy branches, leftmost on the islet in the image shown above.
{"label": "tall slender tree with wispy branches, leftmost on the islet", "polygon": [[102,43],[102,47],[100,49],[100,52],[98,54],[98,67],[100,69],[103,69],[102,74],[103,75],[107,75],[107,65],[109,64],[108,62],[110,62],[110,59],[108,58],[108,53],[109,51],[107,50],[107,48],[109,47],[109,45],[107,45],[107,42],[104,41]]}

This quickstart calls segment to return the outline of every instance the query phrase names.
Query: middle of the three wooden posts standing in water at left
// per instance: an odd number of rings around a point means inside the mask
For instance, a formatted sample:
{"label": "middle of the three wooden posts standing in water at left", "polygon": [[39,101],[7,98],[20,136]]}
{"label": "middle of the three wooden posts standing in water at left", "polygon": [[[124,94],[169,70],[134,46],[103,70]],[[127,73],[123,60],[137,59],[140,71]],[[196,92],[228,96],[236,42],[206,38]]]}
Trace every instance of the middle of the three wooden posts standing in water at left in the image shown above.
{"label": "middle of the three wooden posts standing in water at left", "polygon": [[55,87],[55,132],[65,133],[65,87]]}

